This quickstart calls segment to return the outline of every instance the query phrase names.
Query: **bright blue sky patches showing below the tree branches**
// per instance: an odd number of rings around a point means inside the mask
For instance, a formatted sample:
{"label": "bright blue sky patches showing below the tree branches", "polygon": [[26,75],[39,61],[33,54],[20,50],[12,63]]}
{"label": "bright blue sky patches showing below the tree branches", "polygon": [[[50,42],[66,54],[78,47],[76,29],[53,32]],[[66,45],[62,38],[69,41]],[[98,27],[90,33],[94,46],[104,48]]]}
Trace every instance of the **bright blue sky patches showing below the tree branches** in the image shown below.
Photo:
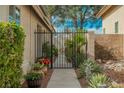
{"label": "bright blue sky patches showing below the tree branches", "polygon": [[[80,27],[80,22],[77,22],[78,27]],[[71,19],[66,19],[64,25],[58,24],[55,29],[57,32],[63,32],[64,29],[69,28],[71,31],[75,31],[73,21]],[[102,18],[98,18],[95,21],[87,20],[83,24],[83,28],[87,31],[95,31],[96,34],[102,33]]]}

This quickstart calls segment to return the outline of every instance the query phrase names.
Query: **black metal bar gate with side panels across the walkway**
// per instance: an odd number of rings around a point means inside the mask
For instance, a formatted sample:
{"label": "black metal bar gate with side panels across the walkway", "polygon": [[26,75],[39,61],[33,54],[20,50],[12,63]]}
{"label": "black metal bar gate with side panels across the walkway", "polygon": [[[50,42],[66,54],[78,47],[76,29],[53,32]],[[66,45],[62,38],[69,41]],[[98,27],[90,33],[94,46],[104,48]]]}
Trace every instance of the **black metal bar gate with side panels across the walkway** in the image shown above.
{"label": "black metal bar gate with side panels across the walkway", "polygon": [[35,59],[47,57],[50,68],[76,68],[87,58],[85,32],[35,32]]}

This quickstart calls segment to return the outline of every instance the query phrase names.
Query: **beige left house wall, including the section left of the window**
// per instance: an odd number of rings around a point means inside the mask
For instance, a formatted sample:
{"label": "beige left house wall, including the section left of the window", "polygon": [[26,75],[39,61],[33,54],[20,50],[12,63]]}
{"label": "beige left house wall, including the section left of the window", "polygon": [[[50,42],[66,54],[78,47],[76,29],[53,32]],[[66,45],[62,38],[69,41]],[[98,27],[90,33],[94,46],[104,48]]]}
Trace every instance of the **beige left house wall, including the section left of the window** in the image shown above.
{"label": "beige left house wall, including the section left of the window", "polygon": [[[35,34],[37,25],[42,29],[40,31],[48,31],[47,26],[43,23],[40,17],[35,13],[31,6],[17,6],[20,9],[20,21],[26,37],[24,45],[24,61],[22,64],[23,74],[26,74],[31,69],[31,64],[35,61]],[[0,21],[9,21],[9,6],[0,6]],[[50,38],[50,37],[49,37]],[[41,40],[43,37],[41,37]]]}

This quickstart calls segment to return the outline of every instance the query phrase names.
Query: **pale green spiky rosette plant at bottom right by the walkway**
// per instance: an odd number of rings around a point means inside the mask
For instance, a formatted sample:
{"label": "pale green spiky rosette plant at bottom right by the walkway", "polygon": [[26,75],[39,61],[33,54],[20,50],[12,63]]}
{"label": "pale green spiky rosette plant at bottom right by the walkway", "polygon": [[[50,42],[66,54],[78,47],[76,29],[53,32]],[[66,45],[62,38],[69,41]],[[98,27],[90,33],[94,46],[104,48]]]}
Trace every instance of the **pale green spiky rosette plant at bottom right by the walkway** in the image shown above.
{"label": "pale green spiky rosette plant at bottom right by the walkway", "polygon": [[108,87],[110,80],[104,74],[94,74],[89,80],[89,86],[92,88]]}

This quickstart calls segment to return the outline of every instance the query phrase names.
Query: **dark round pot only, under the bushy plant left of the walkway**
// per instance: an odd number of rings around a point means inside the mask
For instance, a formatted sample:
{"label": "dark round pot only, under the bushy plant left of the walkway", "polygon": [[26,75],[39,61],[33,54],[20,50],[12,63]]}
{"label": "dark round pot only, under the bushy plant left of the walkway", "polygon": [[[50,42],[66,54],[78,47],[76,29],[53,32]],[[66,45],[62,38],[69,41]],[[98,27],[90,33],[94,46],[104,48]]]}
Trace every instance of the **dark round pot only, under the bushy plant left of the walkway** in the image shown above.
{"label": "dark round pot only, under the bushy plant left of the walkway", "polygon": [[27,84],[29,88],[39,88],[42,84],[42,78],[37,80],[27,80]]}

